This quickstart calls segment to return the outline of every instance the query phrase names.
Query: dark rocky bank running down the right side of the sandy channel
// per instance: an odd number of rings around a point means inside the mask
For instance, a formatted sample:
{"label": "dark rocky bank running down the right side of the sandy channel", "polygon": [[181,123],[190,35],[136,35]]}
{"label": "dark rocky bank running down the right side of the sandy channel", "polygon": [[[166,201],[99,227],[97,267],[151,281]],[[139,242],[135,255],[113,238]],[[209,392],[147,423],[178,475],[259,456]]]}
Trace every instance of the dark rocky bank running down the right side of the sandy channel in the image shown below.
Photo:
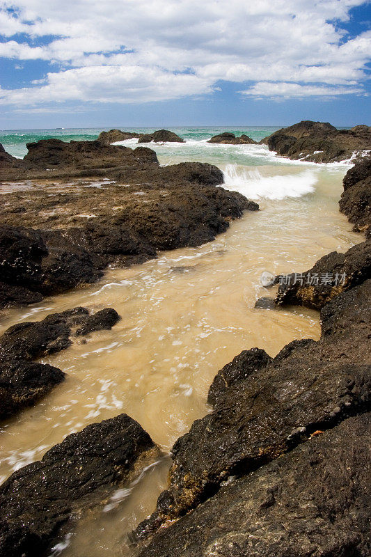
{"label": "dark rocky bank running down the right side of the sandy channel", "polygon": [[[361,164],[345,187],[368,179]],[[137,555],[370,553],[370,262],[366,240],[310,269],[345,272],[345,288],[284,291],[322,308],[317,342],[274,359],[254,348],[219,371],[212,413],[176,441],[169,487],[132,535]]]}

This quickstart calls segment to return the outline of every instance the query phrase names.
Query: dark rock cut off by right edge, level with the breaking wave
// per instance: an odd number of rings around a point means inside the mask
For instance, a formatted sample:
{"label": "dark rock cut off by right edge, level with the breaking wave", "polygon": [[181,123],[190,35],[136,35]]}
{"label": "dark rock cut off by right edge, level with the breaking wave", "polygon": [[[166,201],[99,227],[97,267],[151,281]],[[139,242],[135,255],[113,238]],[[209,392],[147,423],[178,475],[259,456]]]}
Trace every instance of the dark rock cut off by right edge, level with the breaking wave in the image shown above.
{"label": "dark rock cut off by right edge, level with the breaking wave", "polygon": [[340,211],[354,223],[356,232],[371,233],[371,159],[358,162],[342,181]]}

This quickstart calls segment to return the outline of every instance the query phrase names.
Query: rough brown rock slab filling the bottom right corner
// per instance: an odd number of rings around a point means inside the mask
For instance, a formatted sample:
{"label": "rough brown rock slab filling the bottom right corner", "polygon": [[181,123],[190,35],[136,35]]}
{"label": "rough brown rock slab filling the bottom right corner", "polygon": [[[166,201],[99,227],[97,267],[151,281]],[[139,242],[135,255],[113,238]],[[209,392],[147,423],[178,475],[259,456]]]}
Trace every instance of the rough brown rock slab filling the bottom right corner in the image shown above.
{"label": "rough brown rock slab filling the bottom right corner", "polygon": [[237,478],[141,557],[368,557],[370,414]]}

